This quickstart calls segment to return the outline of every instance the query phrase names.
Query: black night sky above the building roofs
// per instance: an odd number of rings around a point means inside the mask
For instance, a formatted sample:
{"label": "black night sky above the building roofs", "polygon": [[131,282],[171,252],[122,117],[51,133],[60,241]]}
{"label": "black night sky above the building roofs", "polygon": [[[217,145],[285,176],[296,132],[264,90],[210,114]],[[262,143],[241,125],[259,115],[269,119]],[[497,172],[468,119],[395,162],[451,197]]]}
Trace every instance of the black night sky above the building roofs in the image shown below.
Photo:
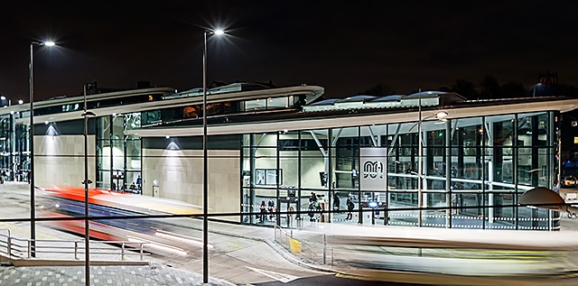
{"label": "black night sky above the building roofs", "polygon": [[273,80],[348,97],[378,84],[404,94],[486,75],[529,88],[553,70],[578,86],[576,1],[79,3],[3,4],[0,94],[28,101],[30,42],[46,39],[58,47],[34,48],[37,99],[80,95],[95,80],[200,88],[211,27],[228,36],[209,39],[209,83]]}

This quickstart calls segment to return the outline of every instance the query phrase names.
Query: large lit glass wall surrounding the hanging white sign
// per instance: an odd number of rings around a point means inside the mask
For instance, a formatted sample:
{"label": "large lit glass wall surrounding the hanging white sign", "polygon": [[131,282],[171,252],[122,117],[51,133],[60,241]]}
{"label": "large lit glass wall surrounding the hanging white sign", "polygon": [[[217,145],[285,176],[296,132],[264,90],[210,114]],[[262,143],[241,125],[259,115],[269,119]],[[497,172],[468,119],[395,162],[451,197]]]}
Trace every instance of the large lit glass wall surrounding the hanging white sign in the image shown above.
{"label": "large lit glass wall surrounding the hanging white sign", "polygon": [[[267,217],[264,224],[281,219],[282,226],[293,220],[556,229],[556,213],[517,206],[527,189],[553,186],[554,116],[540,112],[247,134],[242,211],[272,200],[275,209],[293,213]],[[360,150],[376,147],[387,150],[387,182],[381,190],[362,189]]]}

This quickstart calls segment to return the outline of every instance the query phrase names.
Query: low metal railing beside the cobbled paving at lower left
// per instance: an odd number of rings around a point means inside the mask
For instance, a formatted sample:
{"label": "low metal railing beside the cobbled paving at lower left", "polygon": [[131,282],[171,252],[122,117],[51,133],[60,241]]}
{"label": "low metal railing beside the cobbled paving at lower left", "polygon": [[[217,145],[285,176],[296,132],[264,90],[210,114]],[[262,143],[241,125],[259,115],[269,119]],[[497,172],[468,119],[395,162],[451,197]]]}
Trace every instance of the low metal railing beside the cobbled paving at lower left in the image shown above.
{"label": "low metal railing beside the cobbled paving at lower left", "polygon": [[[35,242],[35,244],[33,244]],[[91,260],[120,260],[137,256],[143,261],[144,244],[127,241],[90,241]],[[79,260],[85,254],[85,240],[22,239],[13,237],[10,229],[0,229],[0,254],[13,259]]]}

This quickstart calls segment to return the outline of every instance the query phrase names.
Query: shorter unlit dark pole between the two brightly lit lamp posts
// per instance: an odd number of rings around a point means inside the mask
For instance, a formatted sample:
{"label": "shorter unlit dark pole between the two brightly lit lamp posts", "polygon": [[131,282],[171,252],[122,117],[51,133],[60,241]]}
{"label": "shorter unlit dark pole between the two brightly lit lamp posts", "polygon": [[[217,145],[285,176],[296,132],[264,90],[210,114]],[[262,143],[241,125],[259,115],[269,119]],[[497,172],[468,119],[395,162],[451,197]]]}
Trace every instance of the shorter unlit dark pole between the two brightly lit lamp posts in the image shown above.
{"label": "shorter unlit dark pole between the two brightly lit lamp posts", "polygon": [[87,84],[83,88],[84,95],[84,267],[85,267],[85,285],[90,285],[90,227],[89,227],[89,118],[96,115],[87,109]]}

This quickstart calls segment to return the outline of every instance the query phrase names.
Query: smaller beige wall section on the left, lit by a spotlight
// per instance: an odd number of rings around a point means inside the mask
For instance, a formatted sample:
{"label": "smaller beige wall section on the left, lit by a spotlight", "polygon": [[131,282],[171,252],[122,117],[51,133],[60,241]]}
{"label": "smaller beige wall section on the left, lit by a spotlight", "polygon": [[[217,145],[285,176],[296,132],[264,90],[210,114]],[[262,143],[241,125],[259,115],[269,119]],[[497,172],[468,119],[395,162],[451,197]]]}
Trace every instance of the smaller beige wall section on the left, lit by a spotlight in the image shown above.
{"label": "smaller beige wall section on the left, lit by a spotlight", "polygon": [[[96,181],[94,135],[88,142],[89,179]],[[84,135],[34,136],[34,185],[84,186],[84,154]]]}

